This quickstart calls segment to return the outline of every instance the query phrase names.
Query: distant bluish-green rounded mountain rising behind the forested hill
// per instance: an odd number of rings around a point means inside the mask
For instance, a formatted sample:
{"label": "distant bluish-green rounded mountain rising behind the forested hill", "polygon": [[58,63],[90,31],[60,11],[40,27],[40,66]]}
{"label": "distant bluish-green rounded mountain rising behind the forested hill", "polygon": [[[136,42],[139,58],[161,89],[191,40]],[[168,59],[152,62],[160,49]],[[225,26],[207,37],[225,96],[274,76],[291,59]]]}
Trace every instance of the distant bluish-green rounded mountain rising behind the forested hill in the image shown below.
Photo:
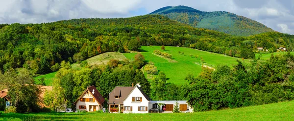
{"label": "distant bluish-green rounded mountain rising behind the forested hill", "polygon": [[216,30],[235,36],[250,36],[274,31],[255,20],[225,11],[203,12],[187,6],[167,6],[150,14],[167,16],[196,28]]}

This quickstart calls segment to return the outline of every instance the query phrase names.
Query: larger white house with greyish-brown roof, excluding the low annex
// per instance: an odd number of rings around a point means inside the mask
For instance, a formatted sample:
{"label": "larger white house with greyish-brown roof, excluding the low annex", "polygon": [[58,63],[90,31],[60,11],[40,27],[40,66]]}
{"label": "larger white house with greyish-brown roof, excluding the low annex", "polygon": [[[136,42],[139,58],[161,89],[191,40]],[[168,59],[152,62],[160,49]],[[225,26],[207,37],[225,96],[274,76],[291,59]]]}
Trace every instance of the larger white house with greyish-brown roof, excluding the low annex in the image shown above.
{"label": "larger white house with greyish-brown roof, excluding the low annex", "polygon": [[132,87],[115,87],[109,93],[109,113],[148,113],[150,99],[140,87],[140,83]]}

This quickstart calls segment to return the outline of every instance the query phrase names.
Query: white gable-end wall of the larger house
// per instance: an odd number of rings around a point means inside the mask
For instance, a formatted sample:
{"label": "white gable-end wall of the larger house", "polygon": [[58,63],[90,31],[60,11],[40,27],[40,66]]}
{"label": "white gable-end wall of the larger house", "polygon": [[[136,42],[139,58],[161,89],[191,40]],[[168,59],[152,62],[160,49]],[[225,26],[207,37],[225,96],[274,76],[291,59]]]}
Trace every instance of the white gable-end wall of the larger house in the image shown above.
{"label": "white gable-end wall of the larger house", "polygon": [[[132,97],[142,97],[142,101],[133,102]],[[149,101],[144,97],[141,91],[136,87],[131,94],[123,101],[123,106],[132,106],[132,111],[123,111],[123,113],[148,113],[147,111],[138,111],[139,106],[145,106],[149,109],[148,105]],[[152,107],[152,105],[151,105]]]}

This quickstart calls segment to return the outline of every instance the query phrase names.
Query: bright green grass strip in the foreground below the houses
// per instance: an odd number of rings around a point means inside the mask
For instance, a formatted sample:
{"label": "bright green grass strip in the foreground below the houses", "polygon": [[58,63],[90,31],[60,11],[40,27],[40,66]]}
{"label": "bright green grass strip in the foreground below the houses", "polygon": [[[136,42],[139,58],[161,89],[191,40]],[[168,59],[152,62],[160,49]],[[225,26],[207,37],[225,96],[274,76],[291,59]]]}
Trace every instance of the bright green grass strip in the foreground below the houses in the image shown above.
{"label": "bright green grass strip in the foreground below the houses", "polygon": [[1,114],[0,121],[293,121],[294,101],[195,113],[109,114],[30,113]]}

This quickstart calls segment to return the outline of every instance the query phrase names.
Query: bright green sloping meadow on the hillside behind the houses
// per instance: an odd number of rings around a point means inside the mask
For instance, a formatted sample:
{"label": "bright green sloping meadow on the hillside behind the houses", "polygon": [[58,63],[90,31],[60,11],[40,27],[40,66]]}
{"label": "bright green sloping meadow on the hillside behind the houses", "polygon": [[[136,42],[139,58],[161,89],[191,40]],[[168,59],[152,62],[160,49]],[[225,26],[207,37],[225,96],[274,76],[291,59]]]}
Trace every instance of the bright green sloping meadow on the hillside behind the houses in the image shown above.
{"label": "bright green sloping meadow on the hillside behind the houses", "polygon": [[[155,49],[160,50],[160,47],[161,46],[142,46],[140,53],[142,53],[147,62],[152,61],[157,67],[157,70],[163,71],[166,74],[168,78],[167,82],[175,84],[186,83],[187,81],[184,79],[189,73],[196,76],[201,72],[200,57],[202,57],[206,65],[210,67],[216,67],[218,64],[226,64],[232,67],[233,64],[237,64],[236,60],[238,59],[224,56],[223,54],[210,53],[191,48],[166,46],[165,52],[172,54],[173,60],[177,61],[169,62],[153,54],[153,51]],[[178,51],[184,52],[184,55],[180,55]],[[137,53],[123,53],[129,60],[134,60],[136,54]],[[190,55],[198,55],[199,57],[196,59],[194,56],[191,57]],[[238,60],[242,61],[242,59]],[[247,62],[249,60],[245,61]]]}

